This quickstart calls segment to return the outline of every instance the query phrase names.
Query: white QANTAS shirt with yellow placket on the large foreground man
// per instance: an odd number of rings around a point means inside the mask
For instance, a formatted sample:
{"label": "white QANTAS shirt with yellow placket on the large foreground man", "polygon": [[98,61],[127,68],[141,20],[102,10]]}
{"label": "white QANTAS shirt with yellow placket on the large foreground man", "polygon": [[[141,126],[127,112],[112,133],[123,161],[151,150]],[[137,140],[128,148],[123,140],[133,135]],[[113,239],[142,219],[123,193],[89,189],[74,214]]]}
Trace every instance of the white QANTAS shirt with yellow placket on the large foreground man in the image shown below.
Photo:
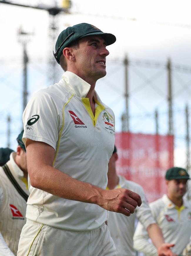
{"label": "white QANTAS shirt with yellow placket on the large foreground man", "polygon": [[[57,84],[34,94],[23,114],[23,141],[49,144],[55,149],[53,167],[105,189],[115,140],[114,114],[95,92],[94,117],[85,98],[89,89],[90,84],[66,71]],[[29,190],[26,217],[30,220],[62,229],[92,230],[107,219],[107,211],[96,204],[59,198],[32,187],[30,180]]]}

